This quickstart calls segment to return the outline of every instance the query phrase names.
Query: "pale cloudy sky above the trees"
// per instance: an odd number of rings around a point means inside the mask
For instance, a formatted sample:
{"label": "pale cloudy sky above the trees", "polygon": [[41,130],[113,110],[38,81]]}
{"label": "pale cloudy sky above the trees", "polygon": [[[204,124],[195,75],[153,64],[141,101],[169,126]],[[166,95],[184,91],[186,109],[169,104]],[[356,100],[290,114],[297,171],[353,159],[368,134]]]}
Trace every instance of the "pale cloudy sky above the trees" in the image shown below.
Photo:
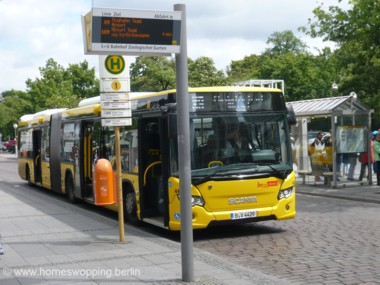
{"label": "pale cloudy sky above the trees", "polygon": [[291,30],[311,52],[334,47],[297,31],[313,17],[317,0],[0,0],[0,93],[25,91],[25,81],[40,77],[49,58],[64,68],[87,60],[98,74],[99,56],[84,54],[81,25],[93,7],[173,11],[174,4],[186,5],[188,57],[210,57],[223,71],[233,60],[261,54],[274,32]]}

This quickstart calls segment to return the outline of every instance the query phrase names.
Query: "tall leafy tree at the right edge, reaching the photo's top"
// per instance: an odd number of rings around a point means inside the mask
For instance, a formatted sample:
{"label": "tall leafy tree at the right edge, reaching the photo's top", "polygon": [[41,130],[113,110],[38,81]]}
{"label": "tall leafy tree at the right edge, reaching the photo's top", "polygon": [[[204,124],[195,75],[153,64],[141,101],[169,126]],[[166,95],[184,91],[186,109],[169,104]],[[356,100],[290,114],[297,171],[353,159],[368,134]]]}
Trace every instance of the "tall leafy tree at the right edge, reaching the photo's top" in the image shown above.
{"label": "tall leafy tree at the right edge, reaching the photo's top", "polygon": [[[341,2],[341,0],[339,1]],[[380,119],[380,2],[351,0],[350,8],[324,6],[314,9],[305,33],[336,42],[337,55],[344,65],[345,76],[340,91],[354,91],[359,99],[377,110]]]}

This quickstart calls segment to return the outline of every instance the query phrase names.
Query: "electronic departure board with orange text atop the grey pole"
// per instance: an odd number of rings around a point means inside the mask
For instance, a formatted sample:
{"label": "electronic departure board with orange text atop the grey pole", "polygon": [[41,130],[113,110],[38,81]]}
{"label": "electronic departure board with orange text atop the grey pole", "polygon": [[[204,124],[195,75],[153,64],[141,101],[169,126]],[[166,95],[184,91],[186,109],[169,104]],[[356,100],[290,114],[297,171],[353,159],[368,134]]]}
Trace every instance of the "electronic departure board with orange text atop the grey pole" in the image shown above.
{"label": "electronic departure board with orange text atop the grey pole", "polygon": [[90,53],[179,53],[181,12],[93,8]]}

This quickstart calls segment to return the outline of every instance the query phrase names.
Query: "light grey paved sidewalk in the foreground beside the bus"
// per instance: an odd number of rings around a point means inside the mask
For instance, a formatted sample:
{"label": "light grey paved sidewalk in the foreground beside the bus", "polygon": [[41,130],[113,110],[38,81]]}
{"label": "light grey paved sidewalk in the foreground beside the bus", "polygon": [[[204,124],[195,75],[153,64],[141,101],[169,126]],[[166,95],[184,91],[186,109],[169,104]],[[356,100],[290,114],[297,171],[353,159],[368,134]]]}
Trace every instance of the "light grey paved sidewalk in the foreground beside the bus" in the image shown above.
{"label": "light grey paved sidewalk in the foreground beside the bus", "polygon": [[182,282],[179,243],[128,225],[121,243],[118,222],[86,207],[0,181],[0,284],[294,284],[196,248]]}

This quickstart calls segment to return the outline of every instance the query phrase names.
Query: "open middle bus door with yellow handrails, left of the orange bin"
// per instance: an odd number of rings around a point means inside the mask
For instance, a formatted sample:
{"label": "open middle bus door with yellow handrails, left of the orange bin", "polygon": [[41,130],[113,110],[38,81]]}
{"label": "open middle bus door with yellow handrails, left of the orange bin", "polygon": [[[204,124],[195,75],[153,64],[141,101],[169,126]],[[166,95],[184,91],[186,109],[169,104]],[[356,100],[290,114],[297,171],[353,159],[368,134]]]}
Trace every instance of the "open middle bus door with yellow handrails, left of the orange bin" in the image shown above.
{"label": "open middle bus door with yellow handrails, left of the orange bin", "polygon": [[99,155],[100,123],[83,122],[81,153],[81,189],[82,197],[93,201],[93,166]]}

